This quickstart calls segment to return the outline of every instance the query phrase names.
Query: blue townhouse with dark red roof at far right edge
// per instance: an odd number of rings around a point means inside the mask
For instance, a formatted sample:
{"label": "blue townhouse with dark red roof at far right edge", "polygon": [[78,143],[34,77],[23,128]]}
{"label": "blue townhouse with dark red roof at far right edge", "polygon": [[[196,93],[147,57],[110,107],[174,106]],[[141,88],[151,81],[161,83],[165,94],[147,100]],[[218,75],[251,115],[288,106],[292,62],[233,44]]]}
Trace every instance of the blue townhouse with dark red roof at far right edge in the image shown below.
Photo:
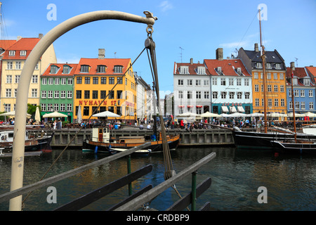
{"label": "blue townhouse with dark red roof at far right edge", "polygon": [[[293,79],[292,79],[293,74]],[[292,93],[292,81],[293,92]],[[294,95],[294,102],[292,100]],[[315,113],[315,81],[306,68],[295,68],[294,62],[287,68],[287,111],[293,113]]]}

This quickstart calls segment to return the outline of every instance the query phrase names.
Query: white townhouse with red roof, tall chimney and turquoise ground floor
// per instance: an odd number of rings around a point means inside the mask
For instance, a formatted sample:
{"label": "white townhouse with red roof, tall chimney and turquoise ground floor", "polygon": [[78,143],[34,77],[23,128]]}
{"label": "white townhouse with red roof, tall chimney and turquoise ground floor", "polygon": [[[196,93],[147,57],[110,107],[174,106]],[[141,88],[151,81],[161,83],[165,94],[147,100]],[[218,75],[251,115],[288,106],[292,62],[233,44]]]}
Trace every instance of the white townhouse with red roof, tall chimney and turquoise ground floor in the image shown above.
{"label": "white townhouse with red roof, tall chimney and turquoise ground floor", "polygon": [[216,59],[205,59],[211,76],[211,112],[252,113],[251,75],[238,58],[223,58],[216,49]]}

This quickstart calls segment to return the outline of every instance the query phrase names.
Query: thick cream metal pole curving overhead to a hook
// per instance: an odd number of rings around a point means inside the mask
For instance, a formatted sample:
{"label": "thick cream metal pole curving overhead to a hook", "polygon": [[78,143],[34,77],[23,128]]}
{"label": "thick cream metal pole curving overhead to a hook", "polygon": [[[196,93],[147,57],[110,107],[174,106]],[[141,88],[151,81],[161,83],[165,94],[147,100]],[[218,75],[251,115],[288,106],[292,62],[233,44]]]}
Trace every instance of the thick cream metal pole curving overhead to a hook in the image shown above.
{"label": "thick cream metal pole curving overhead to a hook", "polygon": [[[123,13],[118,11],[95,11],[91,13],[84,13],[74,16],[66,20],[60,25],[54,27],[49,31],[37,45],[34,47],[29,57],[25,61],[25,65],[20,75],[20,82],[18,85],[18,93],[16,97],[16,114],[14,126],[14,141],[13,141],[13,155],[12,155],[12,169],[11,169],[11,191],[14,191],[23,186],[23,169],[24,169],[24,153],[25,153],[25,118],[27,112],[27,98],[29,92],[29,83],[31,81],[33,71],[43,53],[48,49],[53,41],[58,39],[66,32],[72,30],[79,25],[91,23],[97,20],[126,20],[135,23],[147,24],[147,30],[152,30],[154,25],[154,18],[152,13],[145,11],[146,18],[130,13]],[[9,210],[22,210],[22,195],[10,200]]]}

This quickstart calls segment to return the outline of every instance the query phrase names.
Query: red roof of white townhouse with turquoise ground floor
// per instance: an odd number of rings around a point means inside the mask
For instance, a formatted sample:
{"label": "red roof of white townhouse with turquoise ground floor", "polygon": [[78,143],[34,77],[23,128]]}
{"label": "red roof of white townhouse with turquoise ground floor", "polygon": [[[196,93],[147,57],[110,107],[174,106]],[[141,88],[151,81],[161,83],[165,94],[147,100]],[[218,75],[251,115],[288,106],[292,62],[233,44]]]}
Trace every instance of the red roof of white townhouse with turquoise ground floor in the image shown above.
{"label": "red roof of white townhouse with turquoise ground floor", "polygon": [[[222,75],[225,76],[245,76],[250,77],[251,75],[244,67],[244,63],[239,58],[235,59],[204,59],[204,63],[209,70],[209,73],[213,76],[219,76],[218,68],[221,68]],[[237,68],[242,68],[242,75],[237,73]]]}

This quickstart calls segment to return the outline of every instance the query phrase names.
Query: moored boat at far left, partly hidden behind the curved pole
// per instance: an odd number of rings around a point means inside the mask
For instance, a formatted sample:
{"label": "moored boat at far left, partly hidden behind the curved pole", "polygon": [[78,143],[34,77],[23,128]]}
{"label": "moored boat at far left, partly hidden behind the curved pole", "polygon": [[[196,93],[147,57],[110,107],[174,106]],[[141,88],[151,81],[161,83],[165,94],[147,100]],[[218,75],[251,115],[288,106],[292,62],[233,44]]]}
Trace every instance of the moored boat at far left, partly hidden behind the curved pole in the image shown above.
{"label": "moored boat at far left, partly hidden behind the curved pole", "polygon": [[[35,136],[30,134],[30,131],[25,131],[25,152],[38,151],[43,152],[51,151],[51,139],[53,135],[42,134]],[[0,131],[0,149],[4,153],[11,153],[13,150],[13,129],[1,129]]]}

